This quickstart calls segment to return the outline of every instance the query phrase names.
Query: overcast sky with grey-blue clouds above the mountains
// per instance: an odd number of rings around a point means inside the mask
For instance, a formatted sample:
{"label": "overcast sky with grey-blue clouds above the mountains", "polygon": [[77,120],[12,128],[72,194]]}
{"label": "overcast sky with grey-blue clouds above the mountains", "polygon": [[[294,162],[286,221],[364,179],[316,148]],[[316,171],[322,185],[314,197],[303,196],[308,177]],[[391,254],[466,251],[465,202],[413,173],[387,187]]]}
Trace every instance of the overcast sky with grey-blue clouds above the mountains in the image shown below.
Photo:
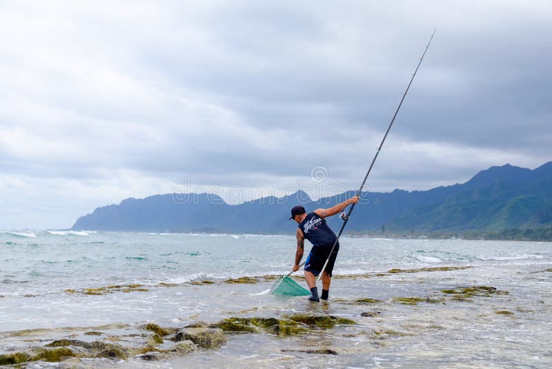
{"label": "overcast sky with grey-blue clouds above the mountains", "polygon": [[552,2],[2,1],[0,229],[552,160]]}

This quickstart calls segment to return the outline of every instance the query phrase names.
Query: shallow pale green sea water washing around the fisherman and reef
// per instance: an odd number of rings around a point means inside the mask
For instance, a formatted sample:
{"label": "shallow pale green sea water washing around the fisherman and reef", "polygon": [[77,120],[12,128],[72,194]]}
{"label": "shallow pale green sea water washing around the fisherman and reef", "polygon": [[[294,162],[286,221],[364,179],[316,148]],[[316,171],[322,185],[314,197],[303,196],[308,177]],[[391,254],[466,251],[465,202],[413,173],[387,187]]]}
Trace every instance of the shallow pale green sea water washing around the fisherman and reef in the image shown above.
{"label": "shallow pale green sea water washing around the fisherman and reef", "polygon": [[[148,322],[182,328],[307,313],[357,324],[289,337],[228,334],[224,346],[185,356],[71,365],[552,366],[552,243],[347,236],[340,243],[330,299],[311,303],[264,293],[273,283],[264,277],[290,272],[293,236],[0,231],[0,354],[87,330],[124,337]],[[295,280],[305,285],[301,275]],[[241,277],[257,283],[229,283]],[[474,286],[501,293],[443,292]],[[410,297],[419,300],[401,300]],[[64,364],[28,368],[52,365]]]}

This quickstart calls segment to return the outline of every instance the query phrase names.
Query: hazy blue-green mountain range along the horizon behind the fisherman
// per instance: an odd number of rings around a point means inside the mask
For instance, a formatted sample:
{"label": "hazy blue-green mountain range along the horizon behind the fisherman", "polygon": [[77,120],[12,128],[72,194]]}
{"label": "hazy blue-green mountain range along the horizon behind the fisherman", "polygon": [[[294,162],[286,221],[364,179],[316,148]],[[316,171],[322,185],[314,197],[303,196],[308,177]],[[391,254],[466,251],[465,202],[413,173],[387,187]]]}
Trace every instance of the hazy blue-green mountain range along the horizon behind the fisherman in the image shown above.
{"label": "hazy blue-green mountain range along the horizon behind the fisherman", "polygon": [[[296,224],[288,220],[290,208],[307,211],[331,207],[353,196],[311,200],[304,191],[289,196],[259,198],[228,205],[210,193],[168,193],[99,207],[81,216],[72,229],[102,231],[208,232],[290,234]],[[354,232],[458,232],[498,231],[552,225],[552,162],[536,169],[510,164],[480,171],[469,181],[427,191],[363,192],[347,230]],[[334,229],[342,220],[328,218]]]}

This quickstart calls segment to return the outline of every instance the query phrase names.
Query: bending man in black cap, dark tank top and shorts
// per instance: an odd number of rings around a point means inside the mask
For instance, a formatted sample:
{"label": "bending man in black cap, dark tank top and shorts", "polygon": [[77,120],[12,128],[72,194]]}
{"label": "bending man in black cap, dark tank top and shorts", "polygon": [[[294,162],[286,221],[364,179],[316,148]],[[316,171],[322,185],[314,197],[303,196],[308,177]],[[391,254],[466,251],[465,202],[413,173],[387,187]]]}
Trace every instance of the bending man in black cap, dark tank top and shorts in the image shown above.
{"label": "bending man in black cap, dark tank top and shorts", "polygon": [[[327,300],[330,292],[330,283],[333,271],[333,265],[337,252],[339,251],[339,243],[335,245],[335,249],[330,256],[328,265],[322,272],[322,267],[328,259],[330,251],[337,240],[335,233],[328,227],[325,218],[340,213],[350,204],[356,204],[358,202],[358,196],[345,200],[329,209],[316,209],[312,213],[306,214],[305,208],[302,206],[295,206],[291,209],[290,219],[297,222],[297,252],[295,252],[295,265],[293,265],[293,272],[297,272],[299,269],[299,263],[303,258],[303,251],[305,246],[305,238],[313,244],[311,252],[308,254],[305,261],[305,280],[308,287],[311,289],[311,297],[308,299],[311,301]],[[322,272],[322,296],[318,297],[318,288],[316,287],[316,276]]]}

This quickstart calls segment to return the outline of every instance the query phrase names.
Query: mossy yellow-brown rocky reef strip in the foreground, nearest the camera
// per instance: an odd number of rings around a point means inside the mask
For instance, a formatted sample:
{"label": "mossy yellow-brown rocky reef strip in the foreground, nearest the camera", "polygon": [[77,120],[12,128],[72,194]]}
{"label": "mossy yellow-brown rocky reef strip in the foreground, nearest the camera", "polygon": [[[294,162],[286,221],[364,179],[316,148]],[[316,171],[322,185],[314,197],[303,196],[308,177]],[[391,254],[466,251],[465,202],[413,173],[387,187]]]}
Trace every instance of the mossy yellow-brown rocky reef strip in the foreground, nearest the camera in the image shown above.
{"label": "mossy yellow-brown rocky reef strip in the foreground, nearest the camera", "polygon": [[[43,346],[0,354],[0,365],[16,365],[30,361],[51,363],[68,359],[126,360],[131,357],[152,361],[200,349],[219,348],[228,341],[228,334],[267,333],[289,336],[313,330],[327,330],[336,325],[353,324],[356,322],[351,319],[321,314],[293,314],[280,319],[230,317],[216,323],[197,322],[184,328],[166,328],[148,323],[140,325],[135,334],[117,336],[98,330],[70,334],[70,337],[55,339]],[[79,335],[80,339],[76,339]],[[88,341],[86,337],[101,337],[101,340]]]}

